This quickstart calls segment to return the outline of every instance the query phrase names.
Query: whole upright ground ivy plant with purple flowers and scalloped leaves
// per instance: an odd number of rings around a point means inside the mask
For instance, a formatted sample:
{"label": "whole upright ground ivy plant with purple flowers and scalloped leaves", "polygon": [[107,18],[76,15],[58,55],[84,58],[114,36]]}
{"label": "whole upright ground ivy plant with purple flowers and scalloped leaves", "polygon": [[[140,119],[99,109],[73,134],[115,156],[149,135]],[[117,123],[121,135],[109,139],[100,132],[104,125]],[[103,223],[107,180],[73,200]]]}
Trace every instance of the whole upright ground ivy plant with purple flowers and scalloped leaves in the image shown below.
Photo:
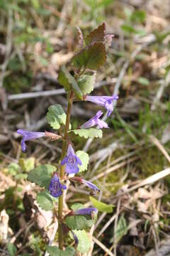
{"label": "whole upright ground ivy plant with purple flowers and scalloped leaves", "polygon": [[[40,137],[50,137],[52,141],[62,140],[62,154],[59,169],[51,164],[40,165],[28,173],[28,181],[36,183],[42,188],[37,194],[39,206],[44,210],[53,210],[58,221],[58,245],[47,246],[47,252],[53,255],[76,255],[77,251],[85,253],[90,248],[89,236],[86,230],[94,225],[98,210],[110,213],[113,206],[106,206],[90,197],[94,207],[85,208],[81,203],[71,206],[66,212],[63,203],[63,191],[67,190],[66,181],[74,186],[76,183],[89,187],[91,193],[96,195],[100,189],[93,183],[86,181],[80,174],[86,171],[89,163],[89,155],[84,151],[74,151],[72,135],[88,138],[101,138],[102,129],[108,128],[108,124],[101,119],[102,111],[98,111],[89,121],[72,129],[70,122],[72,105],[74,101],[93,102],[106,109],[109,116],[113,112],[113,100],[118,96],[94,96],[89,95],[94,90],[96,69],[106,61],[106,47],[111,44],[113,35],[106,34],[106,26],[103,23],[84,38],[78,28],[78,46],[71,60],[72,75],[64,66],[61,68],[58,81],[67,92],[67,113],[59,104],[52,105],[47,111],[47,122],[55,132],[27,132],[18,129],[18,134],[23,136],[21,146],[26,151],[26,142]],[[59,130],[59,134],[57,131]],[[57,198],[57,199],[56,199]],[[67,247],[64,238],[74,239],[74,246]]]}

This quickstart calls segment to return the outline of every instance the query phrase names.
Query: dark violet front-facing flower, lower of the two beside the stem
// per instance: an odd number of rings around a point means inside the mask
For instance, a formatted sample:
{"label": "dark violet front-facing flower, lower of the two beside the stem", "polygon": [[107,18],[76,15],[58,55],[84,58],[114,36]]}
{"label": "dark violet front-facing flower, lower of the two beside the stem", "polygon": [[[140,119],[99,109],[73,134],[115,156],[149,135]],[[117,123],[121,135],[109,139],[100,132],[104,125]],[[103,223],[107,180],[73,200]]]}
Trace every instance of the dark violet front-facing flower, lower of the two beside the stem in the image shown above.
{"label": "dark violet front-facing flower, lower of the two beside the stem", "polygon": [[54,196],[55,198],[62,196],[62,189],[66,189],[66,188],[67,187],[65,185],[60,183],[59,177],[57,176],[57,174],[55,174],[55,176],[52,177],[50,181],[50,186],[49,186],[50,195]]}

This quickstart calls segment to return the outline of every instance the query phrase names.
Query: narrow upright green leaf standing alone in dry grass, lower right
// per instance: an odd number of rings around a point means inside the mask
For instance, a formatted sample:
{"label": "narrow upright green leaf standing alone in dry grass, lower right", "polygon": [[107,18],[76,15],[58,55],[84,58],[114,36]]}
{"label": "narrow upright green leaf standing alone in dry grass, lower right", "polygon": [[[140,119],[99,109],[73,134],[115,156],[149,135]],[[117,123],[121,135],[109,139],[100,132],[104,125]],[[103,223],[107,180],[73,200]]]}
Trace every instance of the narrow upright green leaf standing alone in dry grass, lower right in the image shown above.
{"label": "narrow upright green leaf standing alone in dry grass, lower right", "polygon": [[118,225],[115,230],[115,240],[116,242],[119,242],[121,238],[123,238],[124,235],[128,232],[128,225],[126,223],[124,215],[120,216],[120,219],[118,220]]}

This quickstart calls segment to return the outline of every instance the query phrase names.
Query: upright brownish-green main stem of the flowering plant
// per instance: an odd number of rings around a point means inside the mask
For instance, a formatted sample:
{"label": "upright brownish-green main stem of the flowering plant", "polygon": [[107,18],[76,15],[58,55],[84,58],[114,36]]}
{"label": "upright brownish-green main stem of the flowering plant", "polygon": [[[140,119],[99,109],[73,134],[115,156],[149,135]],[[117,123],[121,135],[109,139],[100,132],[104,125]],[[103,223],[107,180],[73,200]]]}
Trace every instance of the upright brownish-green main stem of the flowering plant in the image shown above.
{"label": "upright brownish-green main stem of the flowering plant", "polygon": [[[73,102],[74,92],[69,92],[68,95],[68,107],[67,107],[67,118],[66,124],[64,127],[64,140],[62,142],[62,156],[61,159],[64,159],[64,156],[67,153],[67,139],[68,139],[68,131],[69,131],[69,123],[70,117],[72,112],[72,102]],[[65,173],[65,166],[61,166],[60,168],[60,178],[64,178]],[[63,233],[62,233],[62,210],[63,210],[63,194],[59,198],[59,205],[58,205],[58,223],[59,223],[59,248],[63,250]]]}

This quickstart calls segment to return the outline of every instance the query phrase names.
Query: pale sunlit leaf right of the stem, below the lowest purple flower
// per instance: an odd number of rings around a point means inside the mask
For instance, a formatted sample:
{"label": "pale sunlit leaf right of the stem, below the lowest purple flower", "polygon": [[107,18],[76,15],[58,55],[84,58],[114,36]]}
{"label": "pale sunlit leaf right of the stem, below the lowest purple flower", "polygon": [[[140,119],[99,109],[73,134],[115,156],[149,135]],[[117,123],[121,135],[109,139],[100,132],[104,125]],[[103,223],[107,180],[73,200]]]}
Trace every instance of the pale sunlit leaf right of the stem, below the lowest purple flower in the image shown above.
{"label": "pale sunlit leaf right of the stem, below the lowest purple flower", "polygon": [[[77,235],[79,240],[79,244],[77,246],[77,250],[81,253],[89,252],[91,247],[91,241],[89,235],[86,233],[85,230],[73,230],[74,234]],[[70,236],[73,238],[72,233]]]}

